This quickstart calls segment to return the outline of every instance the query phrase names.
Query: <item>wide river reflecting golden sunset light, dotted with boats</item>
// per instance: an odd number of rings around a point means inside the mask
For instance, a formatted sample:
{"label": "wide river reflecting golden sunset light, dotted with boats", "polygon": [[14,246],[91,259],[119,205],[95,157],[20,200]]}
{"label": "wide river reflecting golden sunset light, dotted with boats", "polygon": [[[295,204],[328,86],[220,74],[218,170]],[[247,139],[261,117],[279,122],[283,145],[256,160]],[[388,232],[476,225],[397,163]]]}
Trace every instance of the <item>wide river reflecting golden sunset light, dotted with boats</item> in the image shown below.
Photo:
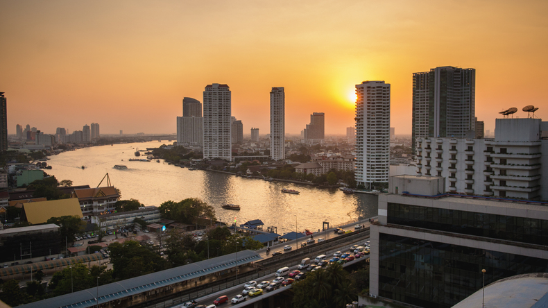
{"label": "wide river reflecting golden sunset light, dotted with boats", "polygon": [[[157,148],[162,142],[94,146],[51,156],[46,170],[74,185],[97,187],[106,173],[111,184],[121,190],[122,199],[135,198],[144,205],[160,206],[166,200],[200,198],[216,209],[219,221],[237,224],[253,219],[263,221],[264,230],[275,226],[277,233],[306,229],[318,230],[322,222],[339,225],[377,214],[377,196],[343,194],[338,189],[318,189],[286,182],[265,182],[225,173],[189,171],[160,160],[130,162],[134,148]],[[146,156],[146,155],[145,155]],[[128,166],[114,169],[115,164]],[[85,169],[81,169],[85,166]],[[106,186],[106,179],[101,186]],[[296,189],[298,195],[282,194],[281,189]],[[240,211],[223,209],[223,203],[240,205]]]}

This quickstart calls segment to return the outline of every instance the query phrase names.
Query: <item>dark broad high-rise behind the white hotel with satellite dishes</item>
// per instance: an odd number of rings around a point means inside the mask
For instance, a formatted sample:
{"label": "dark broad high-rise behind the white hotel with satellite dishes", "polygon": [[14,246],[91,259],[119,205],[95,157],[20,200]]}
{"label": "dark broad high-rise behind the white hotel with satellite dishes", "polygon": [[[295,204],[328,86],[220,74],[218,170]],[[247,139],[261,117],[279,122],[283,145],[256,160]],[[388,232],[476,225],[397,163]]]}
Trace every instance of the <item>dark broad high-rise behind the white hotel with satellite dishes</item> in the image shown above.
{"label": "dark broad high-rise behind the white hotel with satellite dishes", "polygon": [[476,70],[436,67],[413,73],[413,129],[416,138],[464,138],[474,130]]}

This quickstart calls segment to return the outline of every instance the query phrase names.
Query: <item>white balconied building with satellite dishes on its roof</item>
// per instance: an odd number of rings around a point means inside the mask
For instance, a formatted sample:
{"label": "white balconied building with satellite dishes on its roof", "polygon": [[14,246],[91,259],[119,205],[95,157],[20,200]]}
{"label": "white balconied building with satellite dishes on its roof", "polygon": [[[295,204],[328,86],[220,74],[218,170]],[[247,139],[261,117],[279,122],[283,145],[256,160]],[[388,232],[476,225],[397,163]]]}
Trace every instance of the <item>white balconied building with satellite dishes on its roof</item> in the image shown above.
{"label": "white balconied building with satellite dishes on its roof", "polygon": [[496,119],[495,139],[418,138],[417,174],[446,179],[445,191],[548,200],[548,122]]}

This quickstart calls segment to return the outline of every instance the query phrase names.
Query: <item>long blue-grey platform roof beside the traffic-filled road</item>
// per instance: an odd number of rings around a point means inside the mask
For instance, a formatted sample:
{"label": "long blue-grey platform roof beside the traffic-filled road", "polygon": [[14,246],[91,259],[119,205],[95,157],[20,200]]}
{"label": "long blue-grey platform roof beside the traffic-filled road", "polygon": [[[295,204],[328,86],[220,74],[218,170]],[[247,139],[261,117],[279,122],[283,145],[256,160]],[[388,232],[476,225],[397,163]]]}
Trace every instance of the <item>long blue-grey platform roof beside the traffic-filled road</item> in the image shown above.
{"label": "long blue-grey platform roof beside the traffic-filled road", "polygon": [[[236,255],[238,258],[236,258]],[[164,271],[133,277],[112,284],[104,284],[99,288],[86,289],[74,293],[48,298],[38,302],[21,305],[22,308],[42,308],[42,307],[60,307],[60,308],[84,308],[96,305],[96,294],[99,294],[99,304],[104,304],[112,300],[127,298],[135,294],[146,291],[153,291],[162,286],[169,286],[185,280],[210,275],[219,271],[226,271],[233,268],[236,264],[243,265],[249,262],[261,259],[259,254],[252,250],[243,250],[230,255],[223,255],[209,260],[169,268]]]}

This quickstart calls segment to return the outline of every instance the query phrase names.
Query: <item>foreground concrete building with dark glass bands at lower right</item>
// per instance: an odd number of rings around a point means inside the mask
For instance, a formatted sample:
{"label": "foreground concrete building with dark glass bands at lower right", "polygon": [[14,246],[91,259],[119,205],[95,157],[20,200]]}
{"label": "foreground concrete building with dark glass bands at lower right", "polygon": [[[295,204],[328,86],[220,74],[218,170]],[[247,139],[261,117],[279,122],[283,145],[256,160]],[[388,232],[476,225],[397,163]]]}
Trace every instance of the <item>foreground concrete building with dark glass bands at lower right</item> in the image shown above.
{"label": "foreground concrete building with dark glass bands at lower right", "polygon": [[370,227],[371,296],[448,308],[481,290],[482,269],[486,285],[547,271],[547,203],[443,196],[438,177],[389,187]]}

